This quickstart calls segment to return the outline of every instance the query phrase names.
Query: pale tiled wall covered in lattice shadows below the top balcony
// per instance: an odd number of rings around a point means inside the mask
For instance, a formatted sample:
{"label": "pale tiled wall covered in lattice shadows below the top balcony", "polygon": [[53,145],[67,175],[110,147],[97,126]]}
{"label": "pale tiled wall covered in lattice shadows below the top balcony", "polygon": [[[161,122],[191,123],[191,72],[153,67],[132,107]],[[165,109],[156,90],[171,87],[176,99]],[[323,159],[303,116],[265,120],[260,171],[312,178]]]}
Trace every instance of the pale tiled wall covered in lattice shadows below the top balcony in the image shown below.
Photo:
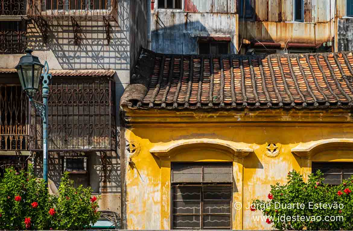
{"label": "pale tiled wall covered in lattice shadows below the top balcony", "polygon": [[110,22],[110,44],[103,21],[78,21],[80,45],[75,45],[71,20],[47,19],[48,38],[43,43],[42,28],[28,24],[28,48],[51,51],[62,69],[130,69],[130,1],[118,1],[118,23]]}

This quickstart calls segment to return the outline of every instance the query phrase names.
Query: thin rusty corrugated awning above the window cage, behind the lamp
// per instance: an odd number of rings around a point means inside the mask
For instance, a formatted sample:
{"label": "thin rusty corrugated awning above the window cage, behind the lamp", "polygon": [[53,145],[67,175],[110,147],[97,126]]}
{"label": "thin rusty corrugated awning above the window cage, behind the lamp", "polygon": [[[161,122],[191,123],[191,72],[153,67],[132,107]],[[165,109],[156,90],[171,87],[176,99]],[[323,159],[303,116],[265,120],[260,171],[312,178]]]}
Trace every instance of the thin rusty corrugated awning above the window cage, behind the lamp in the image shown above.
{"label": "thin rusty corrugated awning above the window cage, behind the lamp", "polygon": [[[0,68],[0,74],[16,73],[14,68]],[[49,70],[53,76],[113,76],[115,70]]]}

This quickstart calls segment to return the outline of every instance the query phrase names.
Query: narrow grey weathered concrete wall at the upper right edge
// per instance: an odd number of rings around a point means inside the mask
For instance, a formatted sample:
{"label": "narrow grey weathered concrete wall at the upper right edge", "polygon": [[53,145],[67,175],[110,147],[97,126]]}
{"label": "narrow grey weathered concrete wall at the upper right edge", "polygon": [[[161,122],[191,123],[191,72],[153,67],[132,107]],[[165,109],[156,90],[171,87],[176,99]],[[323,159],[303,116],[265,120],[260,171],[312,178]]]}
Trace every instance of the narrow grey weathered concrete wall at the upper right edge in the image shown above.
{"label": "narrow grey weathered concrete wall at the upper right edge", "polygon": [[338,18],[337,19],[337,45],[338,51],[353,50],[353,18]]}

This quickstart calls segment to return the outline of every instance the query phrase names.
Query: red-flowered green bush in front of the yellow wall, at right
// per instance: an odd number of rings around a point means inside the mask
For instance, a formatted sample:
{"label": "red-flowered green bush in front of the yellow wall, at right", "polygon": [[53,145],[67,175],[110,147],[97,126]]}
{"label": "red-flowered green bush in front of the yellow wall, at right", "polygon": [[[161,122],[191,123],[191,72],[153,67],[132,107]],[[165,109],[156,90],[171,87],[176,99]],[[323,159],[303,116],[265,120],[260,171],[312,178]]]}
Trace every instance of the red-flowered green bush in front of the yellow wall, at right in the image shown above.
{"label": "red-flowered green bush in front of the yellow wall, at right", "polygon": [[266,223],[280,230],[352,230],[353,178],[330,186],[322,176],[317,171],[306,183],[293,170],[286,185],[271,186],[268,200],[254,200],[250,210],[261,210]]}

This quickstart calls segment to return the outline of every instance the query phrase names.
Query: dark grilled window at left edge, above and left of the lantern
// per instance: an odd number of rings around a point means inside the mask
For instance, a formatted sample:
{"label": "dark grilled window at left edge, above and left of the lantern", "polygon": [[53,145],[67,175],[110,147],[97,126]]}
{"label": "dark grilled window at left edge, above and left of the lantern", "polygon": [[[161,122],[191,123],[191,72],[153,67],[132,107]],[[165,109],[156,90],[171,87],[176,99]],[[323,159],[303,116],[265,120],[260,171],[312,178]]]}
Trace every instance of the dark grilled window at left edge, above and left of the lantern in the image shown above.
{"label": "dark grilled window at left edge, above and left of the lantern", "polygon": [[24,54],[27,45],[26,29],[25,21],[2,21],[0,23],[0,54]]}

